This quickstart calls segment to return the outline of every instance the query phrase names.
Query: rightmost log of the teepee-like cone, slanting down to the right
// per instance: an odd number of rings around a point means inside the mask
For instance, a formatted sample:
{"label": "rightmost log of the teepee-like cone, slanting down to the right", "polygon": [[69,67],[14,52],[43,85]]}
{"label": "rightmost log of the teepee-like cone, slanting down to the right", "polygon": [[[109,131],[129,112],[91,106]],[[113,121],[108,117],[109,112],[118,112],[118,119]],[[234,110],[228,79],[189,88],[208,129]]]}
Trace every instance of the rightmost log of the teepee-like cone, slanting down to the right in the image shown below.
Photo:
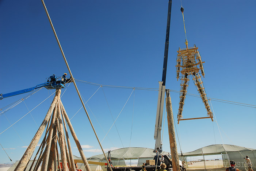
{"label": "rightmost log of the teepee-like cone, slanting down to the right", "polygon": [[71,134],[73,136],[74,141],[76,142],[77,149],[78,149],[78,151],[79,151],[79,153],[81,155],[81,158],[82,158],[82,160],[84,162],[85,169],[87,171],[91,171],[91,168],[89,167],[89,163],[88,163],[87,159],[85,158],[83,149],[82,149],[82,147],[81,147],[81,145],[79,143],[79,140],[77,139],[76,133],[74,132],[74,128],[73,128],[73,126],[72,126],[72,124],[71,124],[71,122],[69,120],[68,114],[66,113],[66,110],[65,110],[65,108],[64,108],[64,106],[63,106],[61,101],[60,101],[60,103],[61,103],[61,106],[62,106],[64,117],[65,117],[65,119],[67,121],[67,124],[68,124],[68,127],[70,129],[70,132],[71,132]]}

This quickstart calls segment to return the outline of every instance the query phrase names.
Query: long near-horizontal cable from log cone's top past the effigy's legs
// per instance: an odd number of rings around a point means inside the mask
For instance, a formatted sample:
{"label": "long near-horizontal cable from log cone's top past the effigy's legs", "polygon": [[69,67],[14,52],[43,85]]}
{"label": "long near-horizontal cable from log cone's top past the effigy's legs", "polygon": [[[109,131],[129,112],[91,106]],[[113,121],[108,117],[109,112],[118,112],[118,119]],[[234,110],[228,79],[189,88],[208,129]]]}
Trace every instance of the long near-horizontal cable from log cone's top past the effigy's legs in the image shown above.
{"label": "long near-horizontal cable from log cone's top past the effigy's legs", "polygon": [[[128,86],[102,85],[102,84],[92,83],[92,82],[87,82],[87,81],[82,81],[82,80],[78,80],[78,79],[76,79],[76,81],[82,82],[82,83],[86,83],[86,84],[90,84],[90,85],[102,86],[102,87],[109,87],[109,88],[123,88],[123,89],[137,89],[137,90],[161,91],[160,89],[156,89],[156,88],[137,88],[137,87],[128,87]],[[171,91],[171,92],[174,92],[174,93],[180,93],[180,91],[177,91],[177,90],[170,90],[170,91]],[[199,95],[197,95],[197,94],[191,94],[191,93],[187,93],[187,96],[193,96],[193,97],[201,98]],[[251,104],[245,104],[245,103],[240,103],[240,102],[222,100],[222,99],[211,98],[211,97],[207,97],[207,99],[208,99],[208,100],[213,100],[213,101],[218,101],[218,102],[223,102],[223,103],[228,103],[228,104],[233,104],[233,105],[240,105],[240,104],[241,104],[240,106],[256,108],[256,105],[251,105]],[[248,106],[247,106],[247,105],[248,105]]]}

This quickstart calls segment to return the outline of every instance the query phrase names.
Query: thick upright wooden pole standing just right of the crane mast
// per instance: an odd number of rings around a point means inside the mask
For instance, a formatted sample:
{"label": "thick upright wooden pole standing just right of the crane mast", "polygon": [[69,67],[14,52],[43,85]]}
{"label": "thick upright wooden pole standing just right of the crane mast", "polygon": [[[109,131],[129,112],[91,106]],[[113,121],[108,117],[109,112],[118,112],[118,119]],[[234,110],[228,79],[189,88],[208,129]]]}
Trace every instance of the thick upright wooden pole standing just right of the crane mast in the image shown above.
{"label": "thick upright wooden pole standing just right of the crane mast", "polygon": [[172,101],[171,101],[169,90],[167,90],[167,96],[166,96],[166,110],[167,110],[169,141],[170,141],[171,156],[172,156],[172,169],[173,171],[179,171],[180,170],[179,156],[177,152],[177,144],[175,139]]}

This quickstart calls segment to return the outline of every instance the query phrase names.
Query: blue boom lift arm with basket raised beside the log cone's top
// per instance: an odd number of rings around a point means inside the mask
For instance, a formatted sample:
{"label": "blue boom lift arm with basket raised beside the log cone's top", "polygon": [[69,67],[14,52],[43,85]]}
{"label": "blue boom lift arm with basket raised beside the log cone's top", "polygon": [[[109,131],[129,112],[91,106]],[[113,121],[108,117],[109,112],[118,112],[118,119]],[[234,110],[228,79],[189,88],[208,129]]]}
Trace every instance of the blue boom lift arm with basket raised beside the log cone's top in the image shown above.
{"label": "blue boom lift arm with basket raised beside the log cone's top", "polygon": [[70,79],[64,81],[62,77],[57,77],[56,75],[50,75],[49,78],[46,78],[46,81],[44,83],[38,84],[35,87],[31,87],[28,89],[19,90],[16,92],[6,93],[6,94],[0,94],[0,100],[6,97],[16,96],[23,93],[32,92],[35,89],[45,87],[46,89],[61,89],[65,88],[65,82],[68,82]]}

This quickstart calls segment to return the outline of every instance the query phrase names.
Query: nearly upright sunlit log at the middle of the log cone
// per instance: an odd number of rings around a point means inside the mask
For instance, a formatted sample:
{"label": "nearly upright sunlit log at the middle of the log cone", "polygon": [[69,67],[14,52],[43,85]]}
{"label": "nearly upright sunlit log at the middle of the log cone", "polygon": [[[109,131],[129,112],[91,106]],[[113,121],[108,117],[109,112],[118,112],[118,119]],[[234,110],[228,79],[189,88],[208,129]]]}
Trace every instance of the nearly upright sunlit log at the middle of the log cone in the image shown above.
{"label": "nearly upright sunlit log at the middle of the log cone", "polygon": [[60,103],[58,101],[58,135],[59,135],[59,145],[60,145],[60,151],[61,151],[61,162],[62,162],[62,168],[64,171],[68,171],[68,165],[67,165],[67,158],[66,158],[66,149],[65,149],[65,141],[64,141],[64,132],[63,132],[63,125],[62,125],[62,119],[61,119],[61,110],[60,110]]}

